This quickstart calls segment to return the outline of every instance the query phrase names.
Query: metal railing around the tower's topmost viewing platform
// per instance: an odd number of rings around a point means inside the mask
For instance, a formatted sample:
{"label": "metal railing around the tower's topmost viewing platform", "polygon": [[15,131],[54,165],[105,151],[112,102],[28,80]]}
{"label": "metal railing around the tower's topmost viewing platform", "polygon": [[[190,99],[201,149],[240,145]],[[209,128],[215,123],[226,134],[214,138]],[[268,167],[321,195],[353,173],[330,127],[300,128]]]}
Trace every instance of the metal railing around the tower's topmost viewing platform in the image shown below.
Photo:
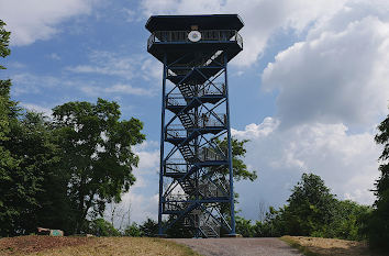
{"label": "metal railing around the tower's topmost viewing platform", "polygon": [[[210,30],[199,31],[201,40],[199,42],[236,42],[243,47],[243,38],[235,30]],[[156,31],[147,41],[147,48],[154,43],[192,43],[188,38],[190,31]]]}

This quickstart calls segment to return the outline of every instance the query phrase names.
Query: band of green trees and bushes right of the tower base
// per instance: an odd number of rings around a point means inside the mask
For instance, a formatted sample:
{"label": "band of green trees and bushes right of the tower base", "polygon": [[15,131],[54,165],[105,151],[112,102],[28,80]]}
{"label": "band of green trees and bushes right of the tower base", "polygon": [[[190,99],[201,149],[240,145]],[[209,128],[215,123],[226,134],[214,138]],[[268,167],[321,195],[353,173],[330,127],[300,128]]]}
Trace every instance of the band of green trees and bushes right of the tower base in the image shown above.
{"label": "band of green trees and bushes right of the tower base", "polygon": [[370,211],[370,207],[336,199],[319,176],[303,174],[286,205],[278,210],[270,207],[265,219],[254,225],[237,218],[236,229],[246,236],[308,235],[364,240],[365,219]]}

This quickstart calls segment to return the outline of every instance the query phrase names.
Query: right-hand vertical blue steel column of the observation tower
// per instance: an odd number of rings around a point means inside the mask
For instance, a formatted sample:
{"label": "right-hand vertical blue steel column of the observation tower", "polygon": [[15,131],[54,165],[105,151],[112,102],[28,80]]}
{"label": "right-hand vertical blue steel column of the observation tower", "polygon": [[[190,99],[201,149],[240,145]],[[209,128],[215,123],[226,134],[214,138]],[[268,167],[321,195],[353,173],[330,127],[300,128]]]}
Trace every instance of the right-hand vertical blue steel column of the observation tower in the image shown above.
{"label": "right-hand vertical blue steel column of the observation tower", "polygon": [[227,125],[227,143],[229,143],[229,169],[230,169],[230,211],[231,211],[231,235],[235,235],[235,207],[234,207],[234,170],[232,168],[232,146],[231,146],[231,125],[230,125],[230,97],[229,97],[229,78],[227,78],[227,56],[224,53],[224,82],[226,97],[226,125]]}

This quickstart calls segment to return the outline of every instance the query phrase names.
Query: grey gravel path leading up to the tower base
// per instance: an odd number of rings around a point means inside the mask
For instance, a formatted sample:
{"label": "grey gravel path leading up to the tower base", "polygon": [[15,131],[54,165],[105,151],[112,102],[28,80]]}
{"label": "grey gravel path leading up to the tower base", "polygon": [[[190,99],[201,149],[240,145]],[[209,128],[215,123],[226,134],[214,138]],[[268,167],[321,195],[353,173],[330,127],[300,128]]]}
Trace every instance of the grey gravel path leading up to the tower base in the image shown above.
{"label": "grey gravel path leading up to the tower base", "polygon": [[203,256],[302,256],[278,238],[174,238]]}

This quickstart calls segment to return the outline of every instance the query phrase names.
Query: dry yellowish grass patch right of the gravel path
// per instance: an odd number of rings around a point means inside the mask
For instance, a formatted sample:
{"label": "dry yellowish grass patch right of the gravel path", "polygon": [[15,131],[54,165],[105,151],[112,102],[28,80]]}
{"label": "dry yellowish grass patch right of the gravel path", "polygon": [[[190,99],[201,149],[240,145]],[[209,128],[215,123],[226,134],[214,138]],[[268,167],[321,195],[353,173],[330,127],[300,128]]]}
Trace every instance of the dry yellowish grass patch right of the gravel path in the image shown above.
{"label": "dry yellowish grass patch right of the gravel path", "polygon": [[307,236],[282,236],[281,241],[290,246],[298,248],[307,256],[367,256],[377,255],[368,249],[365,242],[307,237]]}

